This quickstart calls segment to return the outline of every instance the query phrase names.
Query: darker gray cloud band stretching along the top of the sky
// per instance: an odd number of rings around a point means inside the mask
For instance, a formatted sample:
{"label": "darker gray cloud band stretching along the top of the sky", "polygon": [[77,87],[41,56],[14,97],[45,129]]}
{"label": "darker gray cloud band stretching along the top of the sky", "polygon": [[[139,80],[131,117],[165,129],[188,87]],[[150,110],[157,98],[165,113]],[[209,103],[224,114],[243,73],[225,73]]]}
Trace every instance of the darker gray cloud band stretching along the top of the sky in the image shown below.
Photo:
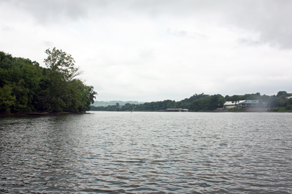
{"label": "darker gray cloud band stretching along the top of the sky", "polygon": [[[202,20],[224,19],[226,25],[260,33],[259,41],[292,49],[291,0],[14,0],[7,1],[29,12],[39,23],[65,22],[90,17],[125,15],[141,11],[161,15],[197,16]],[[183,31],[182,31],[183,32]],[[185,35],[176,32],[177,35]]]}

